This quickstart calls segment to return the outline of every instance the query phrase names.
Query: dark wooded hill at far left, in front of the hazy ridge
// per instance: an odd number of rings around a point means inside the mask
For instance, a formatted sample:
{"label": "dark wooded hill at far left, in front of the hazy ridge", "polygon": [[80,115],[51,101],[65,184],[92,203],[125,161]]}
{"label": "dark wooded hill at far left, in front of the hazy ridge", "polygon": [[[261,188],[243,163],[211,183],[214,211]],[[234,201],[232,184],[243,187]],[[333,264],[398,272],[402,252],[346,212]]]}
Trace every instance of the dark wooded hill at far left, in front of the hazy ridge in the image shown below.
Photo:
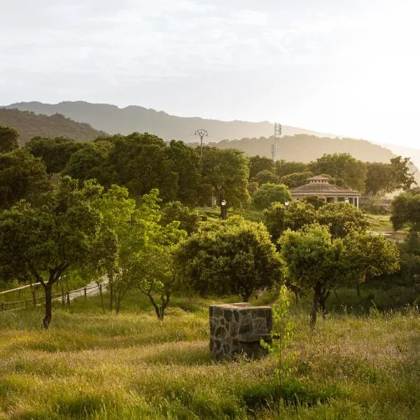
{"label": "dark wooded hill at far left, in front of the hazy ridge", "polygon": [[52,116],[37,115],[30,111],[0,108],[0,124],[13,127],[20,133],[20,144],[36,136],[67,137],[77,141],[90,141],[106,133],[94,130],[89,124],[76,123],[58,113]]}

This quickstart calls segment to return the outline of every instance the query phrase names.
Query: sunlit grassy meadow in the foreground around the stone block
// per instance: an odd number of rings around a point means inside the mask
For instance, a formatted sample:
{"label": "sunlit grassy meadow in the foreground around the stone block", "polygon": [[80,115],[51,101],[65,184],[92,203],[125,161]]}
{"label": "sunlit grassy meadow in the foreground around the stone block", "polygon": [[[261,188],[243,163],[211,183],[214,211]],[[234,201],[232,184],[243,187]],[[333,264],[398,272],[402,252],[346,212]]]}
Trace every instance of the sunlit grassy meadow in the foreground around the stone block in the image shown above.
{"label": "sunlit grassy meadow in the foreground around the stone block", "polygon": [[312,333],[293,304],[279,379],[271,356],[211,360],[211,302],[178,298],[160,323],[137,295],[118,316],[80,298],[48,331],[41,308],[0,313],[0,419],[420,419],[417,310],[343,309]]}

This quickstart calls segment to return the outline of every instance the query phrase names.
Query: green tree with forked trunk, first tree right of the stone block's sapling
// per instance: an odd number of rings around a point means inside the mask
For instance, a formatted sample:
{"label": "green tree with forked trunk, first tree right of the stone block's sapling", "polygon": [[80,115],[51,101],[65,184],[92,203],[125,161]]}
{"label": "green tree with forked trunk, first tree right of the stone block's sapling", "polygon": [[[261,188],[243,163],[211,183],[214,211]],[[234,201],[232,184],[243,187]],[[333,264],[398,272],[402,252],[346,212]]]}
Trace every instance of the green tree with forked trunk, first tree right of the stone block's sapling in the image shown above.
{"label": "green tree with forked trunk, first tree right of the stone block's sapling", "polygon": [[342,276],[342,239],[332,239],[327,226],[314,224],[302,230],[286,230],[279,243],[288,282],[301,293],[314,291],[311,308],[314,327],[318,309],[325,314],[325,302]]}

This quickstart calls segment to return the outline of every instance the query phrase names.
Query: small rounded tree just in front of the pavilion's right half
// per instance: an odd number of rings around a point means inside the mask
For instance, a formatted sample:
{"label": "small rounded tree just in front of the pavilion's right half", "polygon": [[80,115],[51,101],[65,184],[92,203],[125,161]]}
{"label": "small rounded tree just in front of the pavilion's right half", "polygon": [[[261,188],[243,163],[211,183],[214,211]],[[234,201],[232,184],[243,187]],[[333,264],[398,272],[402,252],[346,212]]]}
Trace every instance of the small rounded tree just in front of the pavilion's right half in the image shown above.
{"label": "small rounded tree just in front of the pavilion's right half", "polygon": [[365,230],[368,226],[365,215],[346,202],[325,204],[316,211],[315,218],[321,225],[329,226],[333,238],[345,237],[351,230]]}

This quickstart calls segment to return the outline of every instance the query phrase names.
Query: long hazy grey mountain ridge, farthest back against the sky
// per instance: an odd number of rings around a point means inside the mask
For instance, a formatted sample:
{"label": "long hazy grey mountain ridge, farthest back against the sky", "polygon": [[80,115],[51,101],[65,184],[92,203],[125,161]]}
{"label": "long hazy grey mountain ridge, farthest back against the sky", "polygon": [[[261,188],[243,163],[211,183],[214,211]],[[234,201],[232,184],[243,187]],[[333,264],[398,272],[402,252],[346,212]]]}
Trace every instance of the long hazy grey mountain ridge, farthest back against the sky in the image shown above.
{"label": "long hazy grey mountain ridge, farthest back against the sky", "polygon": [[[59,104],[42,104],[41,102],[19,102],[6,108],[33,111],[51,116],[60,113],[72,120],[88,123],[97,130],[109,134],[130,134],[132,132],[149,132],[169,141],[183,140],[191,143],[197,140],[195,130],[200,128],[209,132],[207,141],[223,139],[242,139],[243,137],[269,137],[274,133],[274,125],[268,121],[250,123],[247,121],[219,121],[203,118],[184,118],[170,116],[163,111],[146,109],[141,106],[118,108],[109,104],[90,104],[89,102],[60,102]],[[311,130],[283,125],[283,134],[319,134]]]}

